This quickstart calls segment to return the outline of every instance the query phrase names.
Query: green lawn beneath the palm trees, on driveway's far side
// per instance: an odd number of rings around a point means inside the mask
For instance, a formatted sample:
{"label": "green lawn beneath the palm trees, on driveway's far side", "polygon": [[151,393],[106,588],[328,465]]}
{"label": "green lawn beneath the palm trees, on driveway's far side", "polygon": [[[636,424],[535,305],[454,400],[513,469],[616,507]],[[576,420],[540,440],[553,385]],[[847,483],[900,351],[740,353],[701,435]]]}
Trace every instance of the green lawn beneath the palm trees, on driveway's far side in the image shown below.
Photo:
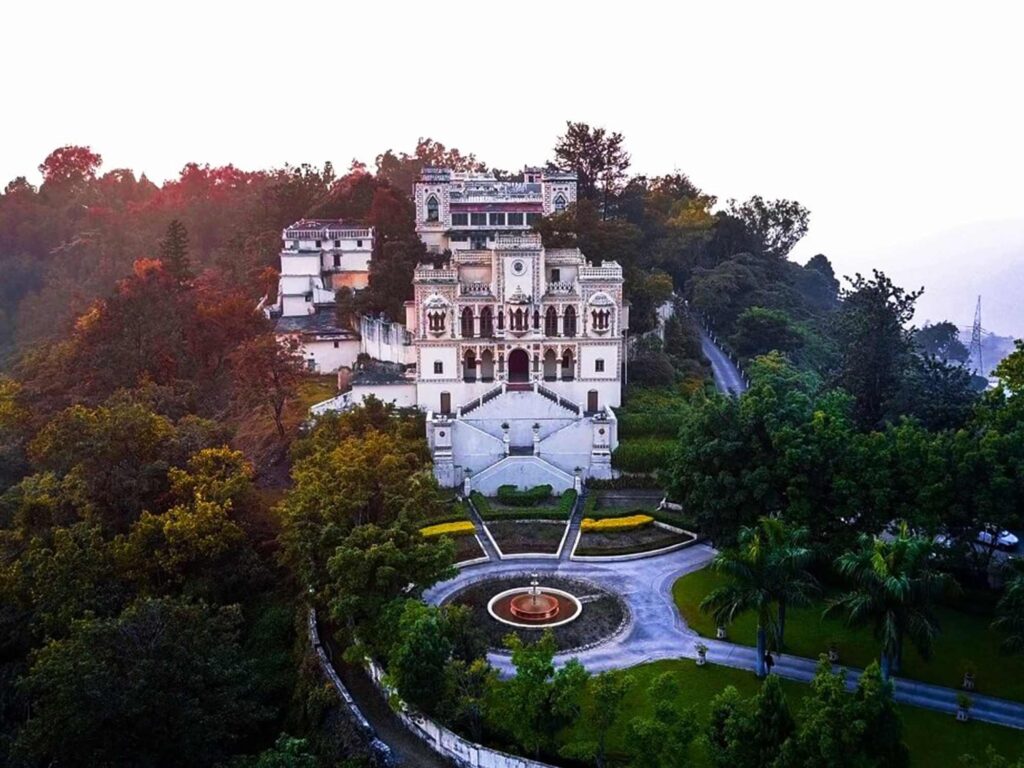
{"label": "green lawn beneath the palm trees, on driveway's far side", "polygon": [[[698,606],[705,595],[723,583],[720,574],[705,568],[684,575],[672,590],[683,618],[706,637],[715,636],[715,621]],[[836,640],[841,664],[862,668],[878,657],[879,645],[869,627],[850,627],[842,615],[823,617],[823,610],[824,604],[818,603],[787,611],[787,653],[816,658],[827,650],[829,641]],[[970,659],[978,668],[979,693],[1024,700],[1024,656],[999,653],[1002,638],[990,629],[991,616],[945,606],[937,608],[936,615],[942,631],[935,642],[932,658],[926,662],[908,646],[904,650],[901,677],[955,688],[963,680],[963,663]],[[754,614],[740,615],[728,628],[729,639],[754,645],[755,627]]]}

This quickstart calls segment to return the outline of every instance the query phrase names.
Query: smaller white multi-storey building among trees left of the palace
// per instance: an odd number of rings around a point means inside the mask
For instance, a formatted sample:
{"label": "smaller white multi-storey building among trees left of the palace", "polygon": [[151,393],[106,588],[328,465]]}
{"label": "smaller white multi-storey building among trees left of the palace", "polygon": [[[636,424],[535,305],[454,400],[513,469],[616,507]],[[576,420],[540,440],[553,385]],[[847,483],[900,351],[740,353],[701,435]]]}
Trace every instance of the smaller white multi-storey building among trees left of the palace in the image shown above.
{"label": "smaller white multi-storey building among trees left of the palace", "polygon": [[268,310],[279,338],[294,338],[311,371],[351,368],[359,334],[341,326],[335,293],[370,283],[373,227],[341,219],[302,219],[282,232],[278,302]]}

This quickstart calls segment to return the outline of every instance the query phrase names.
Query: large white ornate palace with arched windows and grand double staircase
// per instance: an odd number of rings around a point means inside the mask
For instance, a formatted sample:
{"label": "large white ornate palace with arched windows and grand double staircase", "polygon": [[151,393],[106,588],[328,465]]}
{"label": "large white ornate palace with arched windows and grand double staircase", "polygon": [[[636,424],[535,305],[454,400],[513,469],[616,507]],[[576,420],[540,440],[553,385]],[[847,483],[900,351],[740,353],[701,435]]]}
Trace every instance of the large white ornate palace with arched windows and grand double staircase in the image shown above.
{"label": "large white ornate palace with arched windows and grand double staircase", "polygon": [[425,411],[445,486],[560,492],[611,476],[629,325],[623,270],[579,249],[545,249],[531,227],[574,202],[575,176],[527,168],[523,177],[423,171],[417,230],[428,251],[451,255],[417,267],[402,350],[380,355],[404,373],[356,374],[341,398]]}

